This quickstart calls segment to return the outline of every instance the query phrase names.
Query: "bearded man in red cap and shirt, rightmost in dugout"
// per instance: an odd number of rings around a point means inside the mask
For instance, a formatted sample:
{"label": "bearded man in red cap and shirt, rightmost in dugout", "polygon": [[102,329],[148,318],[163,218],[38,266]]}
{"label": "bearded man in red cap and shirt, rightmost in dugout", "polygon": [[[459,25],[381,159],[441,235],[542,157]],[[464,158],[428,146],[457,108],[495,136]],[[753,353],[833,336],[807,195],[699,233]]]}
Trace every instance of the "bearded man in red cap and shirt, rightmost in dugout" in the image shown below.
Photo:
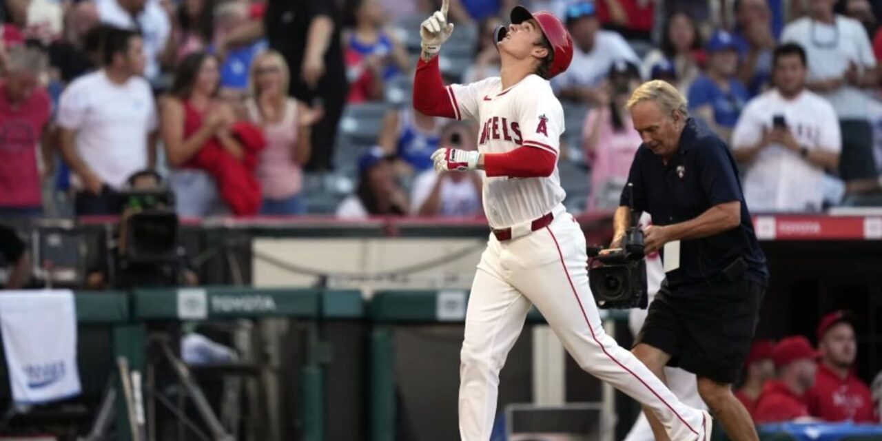
{"label": "bearded man in red cap and shirt, rightmost in dugout", "polygon": [[857,356],[851,316],[836,311],[818,325],[821,363],[815,385],[806,394],[811,415],[830,421],[877,422],[870,388],[852,371]]}

